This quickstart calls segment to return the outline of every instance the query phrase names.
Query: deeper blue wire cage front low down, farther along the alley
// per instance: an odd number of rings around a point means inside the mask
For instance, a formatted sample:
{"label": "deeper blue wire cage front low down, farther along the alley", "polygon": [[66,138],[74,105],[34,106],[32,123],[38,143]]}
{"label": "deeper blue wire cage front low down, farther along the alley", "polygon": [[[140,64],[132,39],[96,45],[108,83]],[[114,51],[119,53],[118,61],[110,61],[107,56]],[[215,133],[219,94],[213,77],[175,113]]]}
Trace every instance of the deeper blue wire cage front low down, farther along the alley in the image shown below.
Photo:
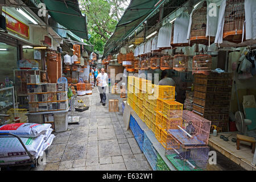
{"label": "deeper blue wire cage front low down, farther along the alley", "polygon": [[130,116],[130,129],[133,131],[133,135],[137,143],[139,144],[139,148],[141,148],[141,151],[143,151],[143,140],[144,140],[144,131],[139,127],[137,121],[134,119],[134,117]]}

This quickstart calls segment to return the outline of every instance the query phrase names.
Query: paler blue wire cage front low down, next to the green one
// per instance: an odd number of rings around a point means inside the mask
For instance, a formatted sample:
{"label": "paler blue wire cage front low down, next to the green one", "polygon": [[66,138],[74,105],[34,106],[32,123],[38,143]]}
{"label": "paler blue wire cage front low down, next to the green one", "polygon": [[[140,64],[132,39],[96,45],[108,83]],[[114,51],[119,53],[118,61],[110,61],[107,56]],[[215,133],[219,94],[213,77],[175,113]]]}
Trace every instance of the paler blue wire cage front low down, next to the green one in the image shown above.
{"label": "paler blue wire cage front low down, next to the green one", "polygon": [[146,156],[151,168],[156,171],[158,154],[157,151],[154,149],[153,144],[150,142],[150,139],[148,139],[146,133],[144,133],[143,153]]}

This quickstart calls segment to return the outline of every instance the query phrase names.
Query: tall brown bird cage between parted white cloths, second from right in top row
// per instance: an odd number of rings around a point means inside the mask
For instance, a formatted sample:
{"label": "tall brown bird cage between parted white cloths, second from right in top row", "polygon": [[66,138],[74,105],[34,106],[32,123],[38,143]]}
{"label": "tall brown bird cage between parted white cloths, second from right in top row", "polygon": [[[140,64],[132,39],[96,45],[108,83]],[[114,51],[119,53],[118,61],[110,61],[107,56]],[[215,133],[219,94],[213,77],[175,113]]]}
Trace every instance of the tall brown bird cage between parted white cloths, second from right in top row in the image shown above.
{"label": "tall brown bird cage between parted white cloths, second from right in top row", "polygon": [[[214,37],[206,37],[207,30],[207,2],[204,1],[203,7],[195,10],[192,14],[190,42],[195,44],[209,45],[214,42]],[[210,40],[209,40],[210,39]]]}

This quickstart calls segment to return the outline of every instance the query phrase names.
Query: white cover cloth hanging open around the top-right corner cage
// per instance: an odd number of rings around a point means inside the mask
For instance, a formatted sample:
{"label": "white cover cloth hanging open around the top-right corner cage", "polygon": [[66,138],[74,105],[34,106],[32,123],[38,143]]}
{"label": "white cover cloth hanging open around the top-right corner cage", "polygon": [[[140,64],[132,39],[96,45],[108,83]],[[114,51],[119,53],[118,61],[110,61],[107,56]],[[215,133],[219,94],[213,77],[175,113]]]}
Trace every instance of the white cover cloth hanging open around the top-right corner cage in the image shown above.
{"label": "white cover cloth hanging open around the top-right corner cage", "polygon": [[[226,8],[226,0],[223,0],[220,11],[218,14],[218,29],[216,33],[216,38],[214,43],[219,46],[248,46],[251,44],[255,44],[256,41],[256,1],[255,0],[245,0],[245,23],[243,28],[243,40],[241,43],[230,43],[228,41],[223,40],[223,28],[225,22],[225,8]],[[246,31],[246,35],[244,37],[244,32]],[[221,44],[221,45],[220,45]]]}

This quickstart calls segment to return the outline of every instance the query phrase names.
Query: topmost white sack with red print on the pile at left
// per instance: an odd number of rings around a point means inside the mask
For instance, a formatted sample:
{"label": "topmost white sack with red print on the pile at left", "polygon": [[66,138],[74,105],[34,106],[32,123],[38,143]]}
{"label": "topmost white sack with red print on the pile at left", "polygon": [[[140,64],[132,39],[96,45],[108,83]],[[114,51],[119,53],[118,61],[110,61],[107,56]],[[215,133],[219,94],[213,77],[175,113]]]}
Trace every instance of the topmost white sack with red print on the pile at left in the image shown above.
{"label": "topmost white sack with red print on the pile at left", "polygon": [[[51,126],[49,123],[42,125],[36,123],[13,123],[0,126],[0,132],[18,135],[19,137],[38,137],[46,133]],[[7,137],[11,137],[11,135]]]}

